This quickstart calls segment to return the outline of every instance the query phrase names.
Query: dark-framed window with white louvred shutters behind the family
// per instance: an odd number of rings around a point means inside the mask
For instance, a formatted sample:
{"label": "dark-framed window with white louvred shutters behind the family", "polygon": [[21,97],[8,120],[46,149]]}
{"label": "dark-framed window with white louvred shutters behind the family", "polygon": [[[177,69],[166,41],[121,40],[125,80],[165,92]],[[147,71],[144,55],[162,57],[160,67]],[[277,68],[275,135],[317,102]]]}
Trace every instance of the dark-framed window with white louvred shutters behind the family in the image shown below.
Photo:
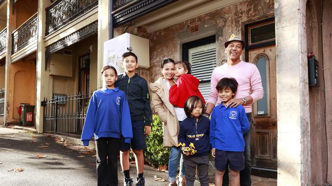
{"label": "dark-framed window with white louvred shutters behind the family", "polygon": [[192,75],[200,80],[198,89],[207,100],[211,74],[216,68],[216,36],[184,43],[182,47],[182,60],[192,64]]}

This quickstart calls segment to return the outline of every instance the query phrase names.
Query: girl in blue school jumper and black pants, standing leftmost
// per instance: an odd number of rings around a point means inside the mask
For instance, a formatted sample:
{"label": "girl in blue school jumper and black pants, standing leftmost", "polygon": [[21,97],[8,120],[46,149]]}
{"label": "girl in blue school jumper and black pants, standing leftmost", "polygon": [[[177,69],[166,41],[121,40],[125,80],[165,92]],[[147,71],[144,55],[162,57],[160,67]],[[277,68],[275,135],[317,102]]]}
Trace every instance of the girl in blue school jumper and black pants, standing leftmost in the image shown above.
{"label": "girl in blue school jumper and black pants, standing leftmost", "polygon": [[104,86],[91,96],[81,140],[87,146],[94,134],[98,185],[117,185],[120,135],[126,143],[133,137],[130,111],[125,93],[114,87],[115,68],[107,65],[101,74]]}

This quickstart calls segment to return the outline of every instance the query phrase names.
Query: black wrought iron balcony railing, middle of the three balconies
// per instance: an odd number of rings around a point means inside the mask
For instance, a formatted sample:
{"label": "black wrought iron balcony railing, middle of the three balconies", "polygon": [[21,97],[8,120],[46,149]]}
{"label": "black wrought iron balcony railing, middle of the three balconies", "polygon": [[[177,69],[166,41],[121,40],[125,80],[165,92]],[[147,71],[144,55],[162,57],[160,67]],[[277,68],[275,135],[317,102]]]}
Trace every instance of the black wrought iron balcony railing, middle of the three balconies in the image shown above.
{"label": "black wrought iron balcony railing, middle of the three balconies", "polygon": [[38,13],[19,26],[12,34],[12,54],[37,40]]}

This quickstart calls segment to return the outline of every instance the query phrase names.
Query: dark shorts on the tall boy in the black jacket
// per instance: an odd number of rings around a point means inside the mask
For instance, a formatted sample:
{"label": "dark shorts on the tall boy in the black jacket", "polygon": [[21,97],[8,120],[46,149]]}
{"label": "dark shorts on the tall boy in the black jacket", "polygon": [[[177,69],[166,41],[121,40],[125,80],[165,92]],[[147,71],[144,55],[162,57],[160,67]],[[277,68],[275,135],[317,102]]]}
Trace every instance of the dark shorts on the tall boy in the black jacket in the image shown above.
{"label": "dark shorts on the tall boy in the black jacket", "polygon": [[131,139],[131,144],[125,143],[125,138],[120,136],[120,150],[127,151],[130,150],[130,145],[133,150],[144,150],[147,148],[147,143],[145,142],[144,135],[144,121],[133,121],[131,122],[133,129],[133,138]]}

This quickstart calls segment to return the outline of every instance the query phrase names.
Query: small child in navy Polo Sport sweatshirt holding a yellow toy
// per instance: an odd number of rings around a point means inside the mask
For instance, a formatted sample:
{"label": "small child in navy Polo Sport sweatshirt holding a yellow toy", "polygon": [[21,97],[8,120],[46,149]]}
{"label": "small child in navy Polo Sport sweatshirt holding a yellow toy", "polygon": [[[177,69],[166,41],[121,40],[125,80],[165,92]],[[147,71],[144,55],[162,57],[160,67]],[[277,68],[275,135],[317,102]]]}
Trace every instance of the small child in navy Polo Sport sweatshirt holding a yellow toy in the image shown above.
{"label": "small child in navy Polo Sport sweatshirt holding a yellow toy", "polygon": [[207,117],[202,116],[204,111],[204,102],[198,96],[191,96],[184,103],[184,112],[187,118],[179,123],[178,141],[183,154],[186,155],[183,156],[186,186],[194,186],[196,167],[201,186],[209,185],[210,122]]}

